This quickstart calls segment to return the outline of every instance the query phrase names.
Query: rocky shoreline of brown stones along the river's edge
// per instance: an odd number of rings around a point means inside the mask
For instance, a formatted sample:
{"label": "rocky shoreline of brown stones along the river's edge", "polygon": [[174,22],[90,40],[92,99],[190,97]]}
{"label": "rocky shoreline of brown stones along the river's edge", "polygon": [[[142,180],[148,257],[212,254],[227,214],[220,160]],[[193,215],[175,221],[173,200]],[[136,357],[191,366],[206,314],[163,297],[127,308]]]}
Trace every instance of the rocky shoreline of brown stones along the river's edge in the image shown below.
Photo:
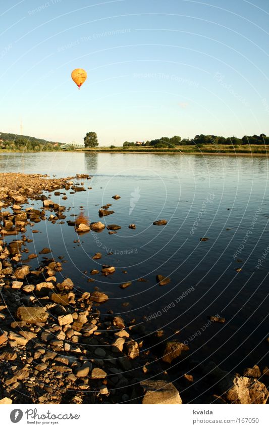
{"label": "rocky shoreline of brown stones along the river's edge", "polygon": [[[27,249],[28,227],[34,233],[39,222],[49,221],[67,222],[78,234],[104,229],[101,221],[67,219],[69,209],[53,202],[52,193],[65,201],[70,193],[91,189],[84,185],[88,180],[80,174],[0,174],[0,404],[265,404],[267,367],[253,363],[232,374],[213,362],[201,365],[188,357],[188,346],[160,341],[162,331],[147,331],[141,320],[124,320],[112,310],[101,315],[109,296],[98,288],[85,292],[71,278],[59,281],[65,261],[53,249],[39,249],[39,267],[32,269],[38,255]],[[32,207],[37,200],[42,210]],[[114,213],[110,206],[99,210],[100,218]],[[120,228],[107,225],[109,233]],[[102,265],[104,277],[114,271]],[[159,274],[157,281],[165,286],[170,279]]]}

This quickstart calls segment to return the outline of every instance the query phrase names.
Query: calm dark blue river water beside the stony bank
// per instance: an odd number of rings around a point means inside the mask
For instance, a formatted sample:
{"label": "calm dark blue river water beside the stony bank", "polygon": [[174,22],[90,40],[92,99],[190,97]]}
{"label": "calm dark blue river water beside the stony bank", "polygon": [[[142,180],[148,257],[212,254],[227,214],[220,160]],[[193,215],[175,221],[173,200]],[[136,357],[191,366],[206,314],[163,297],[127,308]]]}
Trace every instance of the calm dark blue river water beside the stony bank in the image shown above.
{"label": "calm dark blue river water beside the stony bank", "polygon": [[[143,322],[146,329],[164,329],[166,336],[188,342],[190,354],[199,361],[214,360],[222,368],[237,370],[268,364],[266,158],[4,153],[0,171],[92,175],[84,181],[91,190],[68,195],[66,201],[52,195],[52,200],[71,207],[66,220],[74,220],[70,214],[78,215],[83,206],[90,222],[99,220],[100,206],[111,203],[115,214],[100,220],[121,225],[117,234],[109,235],[106,229],[89,232],[80,236],[78,245],[73,243],[78,239],[74,227],[40,222],[33,228],[41,233],[32,234],[28,227],[27,235],[34,240],[30,252],[48,246],[55,258],[63,255],[68,261],[59,278],[70,276],[89,292],[97,286],[109,295],[109,302],[99,307],[101,312],[111,308],[126,319]],[[112,199],[115,194],[121,199]],[[35,205],[40,207],[40,202]],[[168,224],[153,226],[157,219],[167,219]],[[128,228],[131,223],[135,230]],[[201,237],[208,241],[200,242]],[[91,259],[96,252],[102,253],[102,259]],[[264,261],[257,268],[263,253]],[[116,272],[90,276],[100,263],[114,265]],[[37,260],[32,265],[36,267]],[[156,274],[170,276],[171,282],[161,287]],[[87,282],[88,277],[95,282]],[[148,281],[137,282],[139,277]],[[122,290],[119,284],[124,281],[132,285]],[[226,323],[206,326],[208,316],[214,314],[225,317]],[[180,334],[174,336],[176,329]]]}

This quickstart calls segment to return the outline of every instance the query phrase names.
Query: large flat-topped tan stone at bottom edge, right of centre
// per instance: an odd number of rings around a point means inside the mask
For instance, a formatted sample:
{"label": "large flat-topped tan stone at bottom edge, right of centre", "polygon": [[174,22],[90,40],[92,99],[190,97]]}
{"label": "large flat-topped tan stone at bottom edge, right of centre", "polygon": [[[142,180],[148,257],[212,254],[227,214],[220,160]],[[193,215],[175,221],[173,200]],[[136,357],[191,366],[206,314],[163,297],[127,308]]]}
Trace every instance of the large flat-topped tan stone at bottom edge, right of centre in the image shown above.
{"label": "large flat-topped tan stone at bottom edge, right of centre", "polygon": [[173,383],[167,383],[165,380],[144,380],[140,382],[140,388],[143,390],[142,404],[182,404],[179,391]]}

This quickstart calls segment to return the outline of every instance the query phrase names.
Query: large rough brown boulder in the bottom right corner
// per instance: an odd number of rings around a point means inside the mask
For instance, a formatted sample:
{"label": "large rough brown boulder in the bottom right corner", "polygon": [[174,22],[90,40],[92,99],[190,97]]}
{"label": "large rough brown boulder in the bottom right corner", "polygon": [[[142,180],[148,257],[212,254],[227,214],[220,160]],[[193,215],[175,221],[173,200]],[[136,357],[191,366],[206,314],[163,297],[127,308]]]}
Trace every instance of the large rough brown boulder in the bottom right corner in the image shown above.
{"label": "large rough brown boulder in the bottom right corner", "polygon": [[229,374],[218,385],[221,396],[232,404],[266,404],[269,397],[265,385],[248,377]]}

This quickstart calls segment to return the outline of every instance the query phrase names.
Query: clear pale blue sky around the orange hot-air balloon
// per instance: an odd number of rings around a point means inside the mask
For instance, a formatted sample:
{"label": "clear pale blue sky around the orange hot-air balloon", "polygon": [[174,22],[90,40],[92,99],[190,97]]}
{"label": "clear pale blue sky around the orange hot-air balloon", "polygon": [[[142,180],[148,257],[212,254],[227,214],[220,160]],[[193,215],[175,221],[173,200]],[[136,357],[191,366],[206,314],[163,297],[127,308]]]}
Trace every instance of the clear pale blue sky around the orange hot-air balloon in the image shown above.
{"label": "clear pale blue sky around the orange hot-air balloon", "polygon": [[0,16],[0,131],[269,134],[268,0],[10,0]]}

